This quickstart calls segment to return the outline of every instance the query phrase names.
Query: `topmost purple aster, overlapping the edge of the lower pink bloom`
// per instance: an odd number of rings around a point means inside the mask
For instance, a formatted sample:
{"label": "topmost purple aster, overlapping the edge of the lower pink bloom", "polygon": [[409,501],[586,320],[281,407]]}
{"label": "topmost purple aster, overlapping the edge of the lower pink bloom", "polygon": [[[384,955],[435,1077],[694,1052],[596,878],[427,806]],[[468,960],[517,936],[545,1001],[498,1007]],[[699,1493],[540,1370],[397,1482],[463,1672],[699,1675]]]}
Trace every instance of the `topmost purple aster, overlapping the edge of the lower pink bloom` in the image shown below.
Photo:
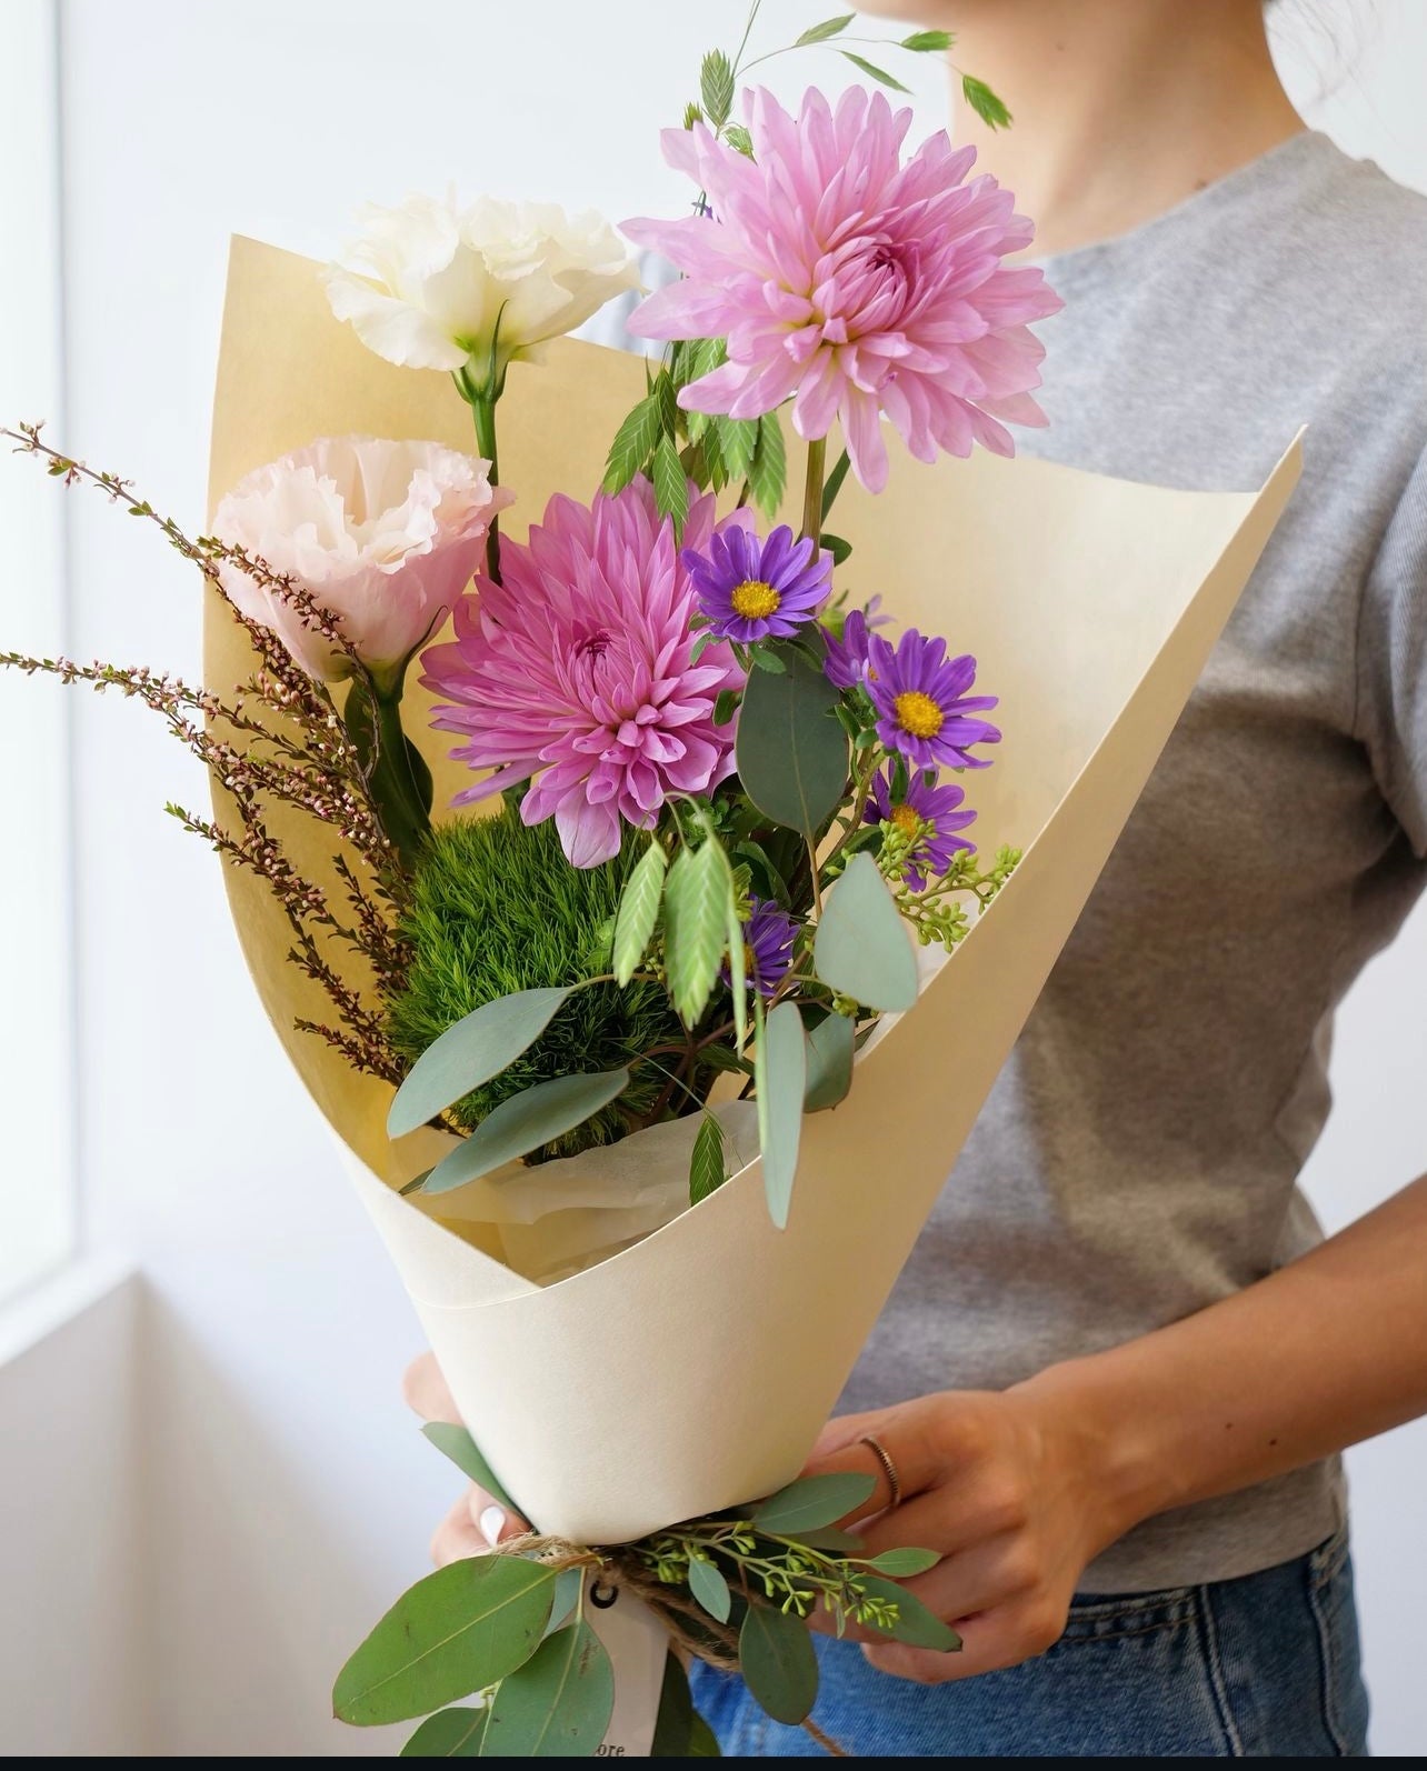
{"label": "topmost purple aster, overlapping the edge of the lower pink bloom", "polygon": [[703,553],[687,549],[699,611],[715,639],[786,639],[811,622],[832,590],[832,554],[793,540],[784,522],[765,540],[729,522]]}

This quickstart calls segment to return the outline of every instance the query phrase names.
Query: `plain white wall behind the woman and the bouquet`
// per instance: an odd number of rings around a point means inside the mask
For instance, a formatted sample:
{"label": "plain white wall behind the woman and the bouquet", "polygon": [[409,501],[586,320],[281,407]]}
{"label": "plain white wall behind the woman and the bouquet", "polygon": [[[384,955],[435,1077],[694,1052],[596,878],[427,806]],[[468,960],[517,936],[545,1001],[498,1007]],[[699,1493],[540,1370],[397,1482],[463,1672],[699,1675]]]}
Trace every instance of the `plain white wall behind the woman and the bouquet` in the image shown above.
{"label": "plain white wall behind the woman and the bouquet", "polygon": [[[230,230],[322,255],[358,202],[450,179],[614,216],[680,202],[655,129],[692,92],[706,11],[64,0],[67,446],[202,522]],[[767,11],[791,35],[832,9]],[[1427,62],[1427,5],[1381,11],[1390,51],[1360,76],[1376,112],[1349,94],[1326,113],[1427,186],[1404,73]],[[770,71],[784,85],[809,71],[784,66]],[[937,122],[935,69],[922,85]],[[189,574],[140,524],[69,498],[76,648],[197,673]],[[133,707],[85,705],[76,731],[81,1172],[96,1234],[140,1254],[154,1296],[156,1739],[202,1755],[390,1752],[338,1730],[326,1691],[421,1571],[455,1488],[397,1401],[418,1332],[257,1008],[218,868],[159,809],[202,802],[204,783]],[[1409,1054],[1418,1075],[1427,1056],[1423,962],[1418,917],[1344,1020],[1342,1130],[1315,1164],[1335,1220],[1423,1162],[1409,1086]],[[1427,1739],[1406,1659],[1427,1583],[1423,1449],[1409,1433],[1358,1458],[1381,1752]]]}

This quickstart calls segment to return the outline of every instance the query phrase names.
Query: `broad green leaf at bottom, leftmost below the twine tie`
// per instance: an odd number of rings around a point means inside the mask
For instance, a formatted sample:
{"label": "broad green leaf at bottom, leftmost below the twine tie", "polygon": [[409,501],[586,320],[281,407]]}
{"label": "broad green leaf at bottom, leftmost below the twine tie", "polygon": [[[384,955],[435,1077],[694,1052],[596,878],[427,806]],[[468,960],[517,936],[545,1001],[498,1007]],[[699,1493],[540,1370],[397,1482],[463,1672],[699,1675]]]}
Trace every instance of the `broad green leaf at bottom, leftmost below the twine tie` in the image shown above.
{"label": "broad green leaf at bottom, leftmost below the twine tie", "polygon": [[513,1555],[480,1555],[404,1592],[333,1688],[340,1721],[372,1727],[425,1716],[496,1684],[535,1652],[554,1573]]}

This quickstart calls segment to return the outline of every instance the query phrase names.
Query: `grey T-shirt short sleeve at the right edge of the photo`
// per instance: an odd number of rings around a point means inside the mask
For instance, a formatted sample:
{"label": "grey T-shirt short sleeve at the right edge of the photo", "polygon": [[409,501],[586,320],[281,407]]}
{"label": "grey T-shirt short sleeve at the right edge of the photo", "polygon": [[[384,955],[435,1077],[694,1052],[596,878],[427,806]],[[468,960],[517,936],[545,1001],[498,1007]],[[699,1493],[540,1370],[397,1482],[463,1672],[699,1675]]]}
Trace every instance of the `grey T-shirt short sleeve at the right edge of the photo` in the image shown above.
{"label": "grey T-shirt short sleeve at the right edge of the photo", "polygon": [[1415,854],[1427,857],[1427,455],[1363,590],[1358,735]]}

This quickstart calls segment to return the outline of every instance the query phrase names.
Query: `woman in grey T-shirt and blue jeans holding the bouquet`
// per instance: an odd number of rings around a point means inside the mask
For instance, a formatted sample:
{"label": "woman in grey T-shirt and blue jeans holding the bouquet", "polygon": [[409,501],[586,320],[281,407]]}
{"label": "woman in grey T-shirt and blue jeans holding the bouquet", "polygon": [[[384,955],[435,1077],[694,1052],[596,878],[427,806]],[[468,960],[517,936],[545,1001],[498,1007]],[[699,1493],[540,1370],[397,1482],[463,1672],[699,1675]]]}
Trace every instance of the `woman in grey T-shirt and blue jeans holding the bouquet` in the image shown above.
{"label": "woman in grey T-shirt and blue jeans holding the bouquet", "polygon": [[[873,1550],[944,1551],[914,1585],[963,1651],[829,1642],[814,1720],[860,1757],[1361,1755],[1335,1454],[1427,1410],[1427,1179],[1326,1243],[1294,1181],[1331,1009],[1423,882],[1427,202],[1305,131],[1259,0],[914,11],[1023,119],[960,120],[1066,299],[1023,446],[1248,487],[1310,430],[809,1465],[878,1477]],[[474,1495],[437,1557],[512,1528]],[[696,1695],[729,1753],[818,1752]]]}

